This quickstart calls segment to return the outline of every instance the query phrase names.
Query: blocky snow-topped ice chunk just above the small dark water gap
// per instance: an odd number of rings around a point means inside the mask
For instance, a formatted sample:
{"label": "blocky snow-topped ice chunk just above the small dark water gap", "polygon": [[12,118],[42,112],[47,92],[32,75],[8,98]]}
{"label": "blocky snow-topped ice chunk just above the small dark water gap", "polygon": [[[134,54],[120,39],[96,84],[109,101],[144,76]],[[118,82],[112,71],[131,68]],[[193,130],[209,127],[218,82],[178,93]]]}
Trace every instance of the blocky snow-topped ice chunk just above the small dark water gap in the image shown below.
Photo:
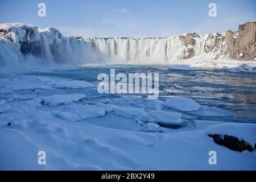
{"label": "blocky snow-topped ice chunk just above the small dark water gap", "polygon": [[148,115],[154,118],[154,122],[168,124],[168,125],[180,125],[181,114],[167,111],[148,111]]}

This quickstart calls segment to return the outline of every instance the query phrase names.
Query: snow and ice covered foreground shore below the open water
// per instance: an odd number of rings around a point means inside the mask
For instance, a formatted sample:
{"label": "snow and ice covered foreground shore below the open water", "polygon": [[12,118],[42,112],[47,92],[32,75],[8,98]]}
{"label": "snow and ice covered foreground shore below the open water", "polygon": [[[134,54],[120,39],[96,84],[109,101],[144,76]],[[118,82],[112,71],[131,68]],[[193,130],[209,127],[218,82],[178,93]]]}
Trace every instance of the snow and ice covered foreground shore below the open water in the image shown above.
{"label": "snow and ice covered foreground shore below the open water", "polygon": [[[208,134],[254,146],[256,124],[195,117],[205,115],[230,113],[184,97],[101,98],[85,81],[0,75],[0,169],[255,170],[255,151],[229,150]],[[46,165],[38,164],[39,151]]]}

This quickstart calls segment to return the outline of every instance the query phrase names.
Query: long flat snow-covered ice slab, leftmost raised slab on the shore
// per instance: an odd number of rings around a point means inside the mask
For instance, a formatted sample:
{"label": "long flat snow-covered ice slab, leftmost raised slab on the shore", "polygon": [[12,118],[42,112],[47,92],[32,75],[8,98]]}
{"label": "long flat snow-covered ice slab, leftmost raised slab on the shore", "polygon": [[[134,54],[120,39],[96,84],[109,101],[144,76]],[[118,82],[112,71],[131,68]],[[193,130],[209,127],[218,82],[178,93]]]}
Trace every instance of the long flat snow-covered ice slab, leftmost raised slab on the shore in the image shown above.
{"label": "long flat snow-covered ice slab, leftmost raised slab on the shore", "polygon": [[56,106],[60,104],[69,104],[85,98],[85,94],[57,94],[52,96],[42,97],[44,105]]}

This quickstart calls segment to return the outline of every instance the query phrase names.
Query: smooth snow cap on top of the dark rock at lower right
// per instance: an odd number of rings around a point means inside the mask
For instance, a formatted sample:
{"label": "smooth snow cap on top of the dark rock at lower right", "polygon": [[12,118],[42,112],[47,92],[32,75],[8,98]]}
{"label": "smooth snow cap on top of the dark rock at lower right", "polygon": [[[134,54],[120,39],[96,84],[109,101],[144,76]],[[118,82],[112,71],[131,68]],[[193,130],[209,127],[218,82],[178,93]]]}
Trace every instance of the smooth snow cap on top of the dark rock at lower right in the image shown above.
{"label": "smooth snow cap on top of the dark rock at lower right", "polygon": [[251,146],[256,144],[256,125],[251,123],[224,123],[220,125],[209,126],[205,133],[220,134],[237,137],[245,140]]}

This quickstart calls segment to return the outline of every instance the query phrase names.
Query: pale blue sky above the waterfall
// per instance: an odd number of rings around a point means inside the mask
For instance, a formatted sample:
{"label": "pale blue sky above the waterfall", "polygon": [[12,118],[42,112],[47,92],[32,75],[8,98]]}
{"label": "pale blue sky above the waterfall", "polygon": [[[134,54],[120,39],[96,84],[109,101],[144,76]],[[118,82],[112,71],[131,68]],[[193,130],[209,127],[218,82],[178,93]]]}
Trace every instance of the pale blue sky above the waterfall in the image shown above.
{"label": "pale blue sky above the waterfall", "polygon": [[[38,3],[46,3],[46,17]],[[217,17],[208,16],[209,3]],[[166,37],[185,32],[224,32],[256,20],[256,0],[0,0],[1,23],[58,28],[65,36]]]}

